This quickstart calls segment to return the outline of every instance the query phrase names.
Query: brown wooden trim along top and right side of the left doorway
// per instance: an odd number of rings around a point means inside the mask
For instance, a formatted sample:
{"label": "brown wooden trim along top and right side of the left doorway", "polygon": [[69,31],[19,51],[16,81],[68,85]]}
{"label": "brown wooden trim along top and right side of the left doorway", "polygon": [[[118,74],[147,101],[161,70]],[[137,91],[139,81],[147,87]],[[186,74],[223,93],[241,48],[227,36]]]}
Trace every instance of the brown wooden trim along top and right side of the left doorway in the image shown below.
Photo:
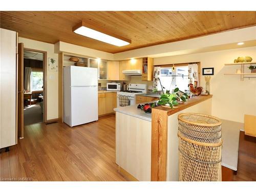
{"label": "brown wooden trim along top and right side of the left doorway", "polygon": [[43,81],[44,81],[44,88],[42,89],[42,93],[44,94],[44,115],[43,115],[43,123],[47,122],[47,51],[41,51],[36,49],[29,49],[24,47],[24,51],[33,51],[37,53],[42,53],[44,58],[42,63],[42,72],[43,72]]}

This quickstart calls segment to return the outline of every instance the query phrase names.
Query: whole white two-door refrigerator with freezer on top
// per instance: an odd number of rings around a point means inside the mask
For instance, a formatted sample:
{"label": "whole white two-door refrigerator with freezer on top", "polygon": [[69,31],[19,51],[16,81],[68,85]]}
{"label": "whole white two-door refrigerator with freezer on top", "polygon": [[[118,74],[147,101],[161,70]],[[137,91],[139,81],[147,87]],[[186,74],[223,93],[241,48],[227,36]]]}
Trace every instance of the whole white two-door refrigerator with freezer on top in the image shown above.
{"label": "whole white two-door refrigerator with freezer on top", "polygon": [[72,127],[97,120],[97,68],[63,68],[63,121]]}

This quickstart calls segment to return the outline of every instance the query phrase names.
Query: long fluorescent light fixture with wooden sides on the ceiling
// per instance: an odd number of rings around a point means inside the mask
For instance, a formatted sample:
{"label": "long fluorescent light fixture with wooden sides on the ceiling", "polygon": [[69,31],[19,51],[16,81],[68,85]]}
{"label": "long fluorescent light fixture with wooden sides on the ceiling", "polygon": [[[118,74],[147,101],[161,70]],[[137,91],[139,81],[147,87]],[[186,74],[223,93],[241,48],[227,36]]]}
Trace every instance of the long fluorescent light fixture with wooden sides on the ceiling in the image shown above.
{"label": "long fluorescent light fixture with wooden sides on the ceiling", "polygon": [[[92,29],[93,27],[89,28],[89,27],[86,27],[85,25],[86,25],[85,22],[81,22],[73,28],[73,31],[76,34],[90,37],[90,38],[93,38],[96,40],[100,40],[102,42],[106,42],[108,44],[115,45],[118,47],[131,44],[131,40],[129,40],[129,39],[126,39],[124,37],[119,37],[117,35],[110,34],[108,32],[107,32],[108,34],[106,34],[105,32],[104,33],[99,32],[99,30],[97,30],[97,29],[94,30],[94,29]],[[116,37],[114,37],[114,36],[116,36]]]}

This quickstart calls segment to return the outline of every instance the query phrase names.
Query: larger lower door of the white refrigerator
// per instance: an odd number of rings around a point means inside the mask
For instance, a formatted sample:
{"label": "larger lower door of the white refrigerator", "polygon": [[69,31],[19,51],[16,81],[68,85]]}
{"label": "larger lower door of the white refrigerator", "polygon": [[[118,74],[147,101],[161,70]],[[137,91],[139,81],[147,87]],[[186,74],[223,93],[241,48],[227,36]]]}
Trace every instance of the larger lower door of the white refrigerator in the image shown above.
{"label": "larger lower door of the white refrigerator", "polygon": [[71,87],[71,126],[98,120],[98,87]]}

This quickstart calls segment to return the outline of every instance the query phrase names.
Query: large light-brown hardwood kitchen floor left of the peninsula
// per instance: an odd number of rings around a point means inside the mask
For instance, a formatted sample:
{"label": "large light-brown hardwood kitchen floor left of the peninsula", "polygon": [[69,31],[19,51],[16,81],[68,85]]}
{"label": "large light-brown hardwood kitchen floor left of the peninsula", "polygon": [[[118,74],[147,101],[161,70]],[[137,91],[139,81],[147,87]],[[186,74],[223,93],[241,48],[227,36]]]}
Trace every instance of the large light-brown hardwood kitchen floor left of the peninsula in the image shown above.
{"label": "large light-brown hardwood kitchen floor left of the peninsula", "polygon": [[72,129],[25,126],[25,138],[0,154],[0,178],[32,181],[125,181],[115,164],[115,115]]}

